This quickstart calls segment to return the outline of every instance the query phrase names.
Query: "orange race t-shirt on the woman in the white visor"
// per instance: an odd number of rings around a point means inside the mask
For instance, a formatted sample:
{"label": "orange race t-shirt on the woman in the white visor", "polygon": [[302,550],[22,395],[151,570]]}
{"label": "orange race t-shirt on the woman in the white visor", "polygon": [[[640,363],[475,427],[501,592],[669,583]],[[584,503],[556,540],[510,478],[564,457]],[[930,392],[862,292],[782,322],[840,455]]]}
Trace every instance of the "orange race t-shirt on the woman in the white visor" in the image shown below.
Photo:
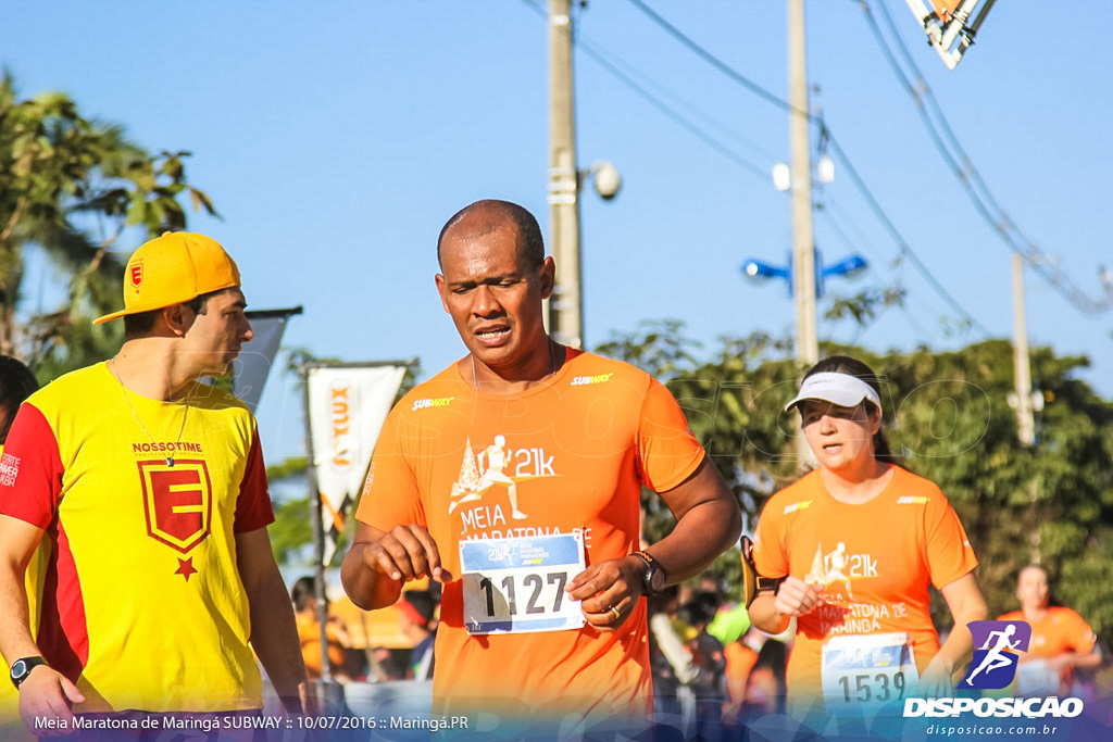
{"label": "orange race t-shirt on the woman in the white visor", "polygon": [[816,695],[824,643],[834,636],[905,632],[920,673],[939,650],[928,586],[943,588],[977,566],[943,492],[907,469],[876,497],[831,497],[812,471],[766,503],[754,561],[767,577],[816,585],[823,604],[797,620],[788,661],[790,694]]}

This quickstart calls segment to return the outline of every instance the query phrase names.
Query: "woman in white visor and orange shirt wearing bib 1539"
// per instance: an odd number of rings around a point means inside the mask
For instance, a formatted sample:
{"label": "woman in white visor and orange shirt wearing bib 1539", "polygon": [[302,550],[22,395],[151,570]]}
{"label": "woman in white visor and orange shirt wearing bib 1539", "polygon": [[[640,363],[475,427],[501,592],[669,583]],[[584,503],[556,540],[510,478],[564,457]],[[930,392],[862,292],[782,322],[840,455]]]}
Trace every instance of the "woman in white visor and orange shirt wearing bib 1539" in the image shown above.
{"label": "woman in white visor and orange shirt wearing bib 1539", "polygon": [[[750,606],[754,625],[770,633],[797,621],[792,708],[821,698],[827,713],[858,714],[953,695],[972,652],[966,623],[986,617],[958,516],[935,484],[895,463],[880,385],[866,364],[819,362],[785,410],[794,407],[819,466],[761,511],[755,564],[779,583]],[[942,646],[930,585],[955,624]]]}

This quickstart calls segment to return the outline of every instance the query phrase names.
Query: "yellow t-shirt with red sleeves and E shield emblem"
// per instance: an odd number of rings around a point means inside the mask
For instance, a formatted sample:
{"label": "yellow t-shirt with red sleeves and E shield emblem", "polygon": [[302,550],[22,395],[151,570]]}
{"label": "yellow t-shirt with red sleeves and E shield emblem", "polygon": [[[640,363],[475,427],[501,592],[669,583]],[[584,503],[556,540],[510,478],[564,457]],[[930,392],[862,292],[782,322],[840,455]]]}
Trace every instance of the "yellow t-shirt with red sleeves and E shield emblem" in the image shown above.
{"label": "yellow t-shirt with red sleeves and E shield emblem", "polygon": [[235,535],[274,513],[243,403],[149,399],[97,364],[28,398],[0,469],[0,513],[45,531],[37,641],[75,712],[262,708]]}

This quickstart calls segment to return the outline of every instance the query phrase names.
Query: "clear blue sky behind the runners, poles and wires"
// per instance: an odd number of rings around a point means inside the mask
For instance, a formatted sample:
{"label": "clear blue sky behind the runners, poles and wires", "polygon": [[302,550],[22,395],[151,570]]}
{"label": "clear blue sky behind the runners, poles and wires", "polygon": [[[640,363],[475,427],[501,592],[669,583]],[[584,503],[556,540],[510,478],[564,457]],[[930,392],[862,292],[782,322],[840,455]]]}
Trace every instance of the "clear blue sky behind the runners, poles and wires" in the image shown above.
{"label": "clear blue sky behind the runners, poles and wires", "polygon": [[[429,376],[462,354],[433,286],[445,219],[479,198],[506,198],[534,211],[548,234],[539,1],[0,0],[0,62],[24,95],[67,91],[86,115],[125,125],[149,149],[190,150],[190,180],[224,216],[190,227],[235,256],[253,308],[305,307],[287,344],[346,360],[417,356]],[[887,28],[881,1],[870,6]],[[1113,7],[998,2],[952,72],[905,2],[884,1],[993,197],[1100,298],[1099,268],[1113,267],[1101,221],[1113,171]],[[787,97],[784,2],[649,4]],[[903,239],[976,320],[947,329],[959,313],[909,261],[897,263],[894,237],[837,161],[835,181],[816,195],[817,246],[828,261],[859,253],[870,269],[829,289],[900,284],[908,294],[905,310],[889,309],[865,330],[821,325],[820,337],[884,350],[1011,336],[1009,250],[933,147],[859,3],[810,0],[807,13],[812,105]],[[647,318],[686,320],[709,347],[722,334],[791,332],[786,285],[739,274],[745,258],[780,263],[790,249],[788,196],[765,175],[788,159],[785,112],[628,0],[594,0],[575,18],[585,47],[718,145],[577,53],[580,165],[609,159],[624,180],[611,202],[593,192],[582,199],[589,345]],[[50,280],[29,276],[29,296]],[[1113,397],[1113,313],[1082,313],[1028,271],[1027,315],[1033,345],[1090,356],[1082,377]],[[272,376],[258,417],[268,459],[301,452],[290,379]]]}

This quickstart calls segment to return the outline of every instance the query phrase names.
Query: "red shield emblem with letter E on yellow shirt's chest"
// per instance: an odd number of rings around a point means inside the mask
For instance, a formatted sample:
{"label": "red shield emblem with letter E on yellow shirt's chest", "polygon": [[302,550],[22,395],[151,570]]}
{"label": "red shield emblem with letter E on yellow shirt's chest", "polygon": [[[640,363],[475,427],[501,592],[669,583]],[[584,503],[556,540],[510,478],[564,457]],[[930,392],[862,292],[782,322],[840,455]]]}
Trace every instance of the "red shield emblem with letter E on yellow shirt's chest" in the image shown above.
{"label": "red shield emblem with letter E on yellow shirt's chest", "polygon": [[209,534],[213,521],[213,484],[200,459],[139,462],[147,535],[183,554]]}

